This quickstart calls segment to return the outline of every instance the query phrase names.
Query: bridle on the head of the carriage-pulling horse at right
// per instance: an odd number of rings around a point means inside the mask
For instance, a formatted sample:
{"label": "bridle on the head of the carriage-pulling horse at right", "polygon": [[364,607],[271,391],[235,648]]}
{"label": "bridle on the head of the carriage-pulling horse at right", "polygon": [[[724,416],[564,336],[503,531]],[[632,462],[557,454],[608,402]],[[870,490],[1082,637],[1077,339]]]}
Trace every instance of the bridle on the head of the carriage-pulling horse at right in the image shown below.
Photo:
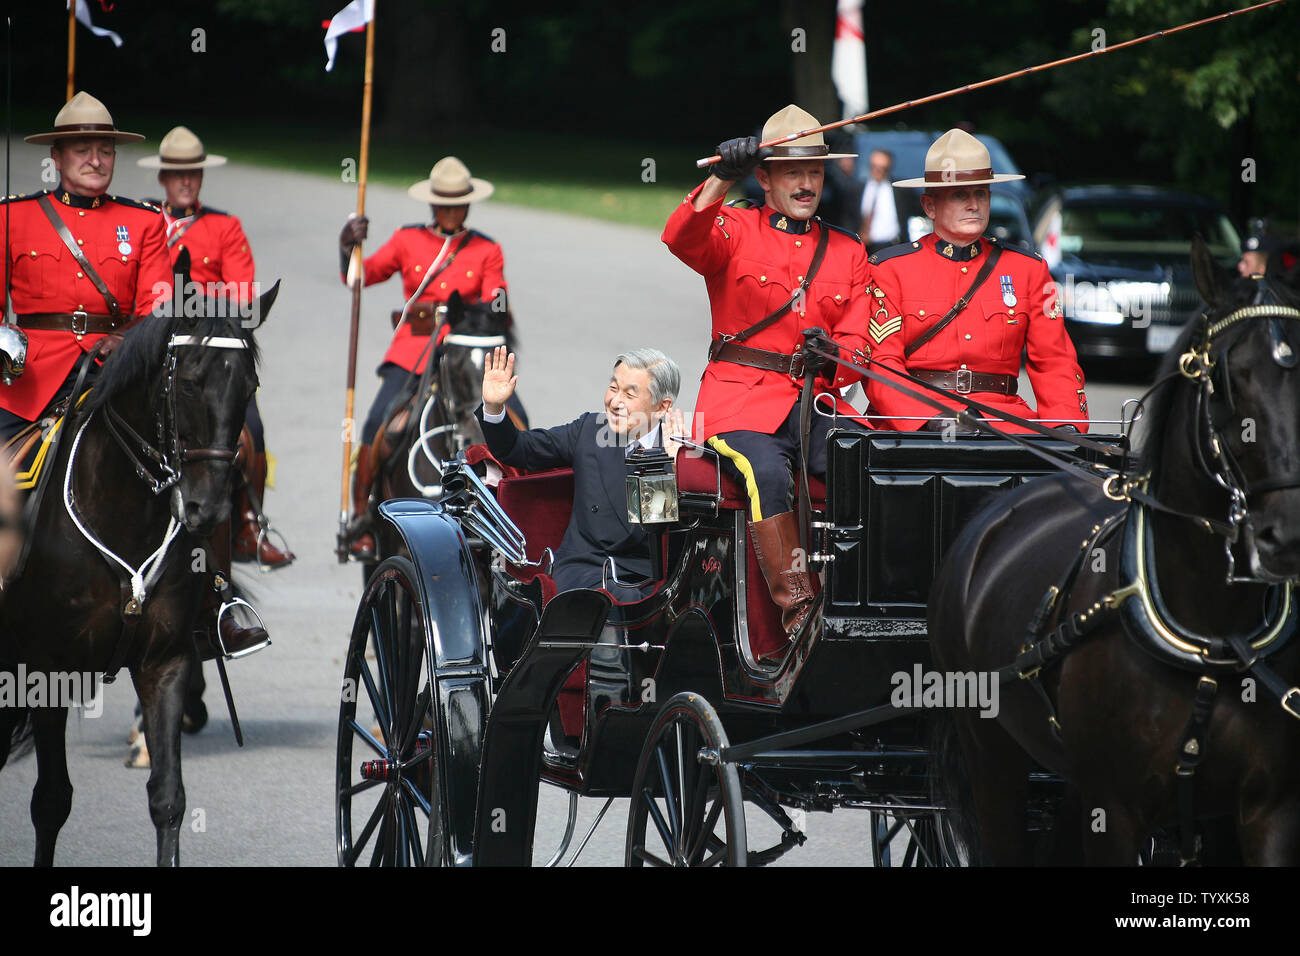
{"label": "bridle on the head of the carriage-pulling horse at right", "polygon": [[[1201,519],[1214,531],[1223,536],[1223,550],[1227,555],[1230,581],[1254,581],[1253,578],[1236,576],[1236,562],[1232,555],[1232,545],[1240,536],[1242,524],[1249,515],[1249,496],[1265,494],[1284,488],[1300,488],[1300,471],[1290,471],[1280,475],[1266,475],[1257,481],[1251,481],[1245,476],[1232,454],[1231,447],[1223,438],[1222,429],[1214,423],[1214,410],[1212,399],[1216,393],[1222,393],[1228,412],[1236,408],[1232,395],[1231,378],[1227,375],[1227,352],[1235,345],[1228,342],[1216,354],[1216,339],[1242,323],[1266,319],[1270,325],[1273,339],[1273,360],[1282,368],[1295,368],[1296,352],[1286,338],[1282,320],[1300,320],[1300,310],[1277,303],[1265,303],[1262,299],[1268,286],[1260,286],[1254,302],[1249,306],[1234,310],[1228,315],[1216,321],[1209,320],[1209,313],[1201,316],[1202,330],[1192,342],[1192,346],[1178,359],[1178,375],[1197,382],[1200,389],[1196,394],[1199,432],[1192,447],[1196,451],[1197,464],[1214,479],[1214,483],[1228,496],[1228,511],[1226,531],[1218,522]],[[1208,455],[1206,455],[1208,450]]]}

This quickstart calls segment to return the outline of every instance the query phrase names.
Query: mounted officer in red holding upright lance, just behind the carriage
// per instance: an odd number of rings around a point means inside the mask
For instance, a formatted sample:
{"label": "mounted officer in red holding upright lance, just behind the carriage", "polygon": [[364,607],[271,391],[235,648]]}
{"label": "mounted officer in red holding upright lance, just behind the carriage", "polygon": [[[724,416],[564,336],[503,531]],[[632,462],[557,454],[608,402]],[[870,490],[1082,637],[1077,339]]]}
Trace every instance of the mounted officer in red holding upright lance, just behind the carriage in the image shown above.
{"label": "mounted officer in red holding upright lance, just behind the carriage", "polygon": [[[436,267],[433,278],[420,295],[417,306],[412,306],[407,320],[393,336],[384,363],[377,372],[384,380],[380,392],[370,405],[370,412],[361,428],[361,447],[358,450],[356,471],[352,473],[354,512],[360,518],[367,514],[370,493],[372,462],[370,444],[384,424],[389,406],[402,392],[411,375],[419,375],[429,362],[433,349],[450,330],[443,325],[438,329],[437,341],[430,341],[434,323],[434,310],[439,303],[460,293],[467,303],[499,303],[499,311],[506,312],[506,260],[500,246],[482,233],[465,229],[469,204],[486,199],[493,194],[493,185],[486,179],[469,176],[469,169],[455,156],[438,160],[429,172],[428,179],[411,186],[407,193],[412,199],[429,203],[433,209],[433,222],[416,222],[402,226],[377,252],[365,258],[361,264],[365,285],[374,285],[402,273],[402,293],[410,299],[425,280],[426,269],[438,258],[443,242],[450,238],[447,254]],[[369,220],[354,217],[339,234],[341,268],[347,272],[347,259],[352,247],[367,237]],[[346,276],[344,276],[346,281]],[[393,320],[400,317],[400,310]],[[374,537],[364,522],[354,531],[350,550],[361,561],[374,557]]]}

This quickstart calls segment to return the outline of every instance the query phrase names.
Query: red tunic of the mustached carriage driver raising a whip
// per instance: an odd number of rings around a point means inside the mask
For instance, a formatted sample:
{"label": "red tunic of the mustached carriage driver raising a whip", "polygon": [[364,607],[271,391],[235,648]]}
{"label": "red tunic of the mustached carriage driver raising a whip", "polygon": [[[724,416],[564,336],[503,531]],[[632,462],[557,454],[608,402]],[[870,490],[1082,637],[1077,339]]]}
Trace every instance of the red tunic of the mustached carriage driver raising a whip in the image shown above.
{"label": "red tunic of the mustached carriage driver raising a whip", "polygon": [[[716,339],[742,332],[789,300],[812,261],[820,230],[828,226],[783,216],[767,206],[724,208],[722,199],[697,211],[692,203],[701,189],[703,183],[668,217],[662,238],[705,277]],[[826,258],[802,308],[796,306],[745,345],[789,355],[802,345],[803,329],[822,326],[840,343],[841,358],[864,364],[871,351],[868,280],[866,247],[852,233],[831,229]],[[828,365],[824,375],[835,376],[835,389],[861,378],[842,365]],[[790,414],[800,389],[800,381],[780,372],[710,362],[696,399],[694,432],[701,440],[736,431],[771,434]],[[845,402],[838,407],[857,414]]]}

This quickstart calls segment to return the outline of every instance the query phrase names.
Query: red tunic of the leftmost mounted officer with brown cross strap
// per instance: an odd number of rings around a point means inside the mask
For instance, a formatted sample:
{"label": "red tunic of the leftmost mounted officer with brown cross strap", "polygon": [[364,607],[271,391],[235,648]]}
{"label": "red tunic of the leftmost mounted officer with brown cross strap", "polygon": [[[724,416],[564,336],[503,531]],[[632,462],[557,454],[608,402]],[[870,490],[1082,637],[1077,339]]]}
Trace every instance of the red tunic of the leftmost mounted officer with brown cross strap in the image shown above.
{"label": "red tunic of the leftmost mounted officer with brown cross strap", "polygon": [[[121,196],[42,191],[0,203],[0,233],[9,226],[13,311],[105,315],[108,306],[42,212],[48,195],[58,217],[126,315],[146,316],[172,297],[172,268],[157,207]],[[64,384],[82,352],[103,334],[78,337],[55,329],[27,330],[27,367],[13,385],[0,385],[0,408],[34,421]]]}

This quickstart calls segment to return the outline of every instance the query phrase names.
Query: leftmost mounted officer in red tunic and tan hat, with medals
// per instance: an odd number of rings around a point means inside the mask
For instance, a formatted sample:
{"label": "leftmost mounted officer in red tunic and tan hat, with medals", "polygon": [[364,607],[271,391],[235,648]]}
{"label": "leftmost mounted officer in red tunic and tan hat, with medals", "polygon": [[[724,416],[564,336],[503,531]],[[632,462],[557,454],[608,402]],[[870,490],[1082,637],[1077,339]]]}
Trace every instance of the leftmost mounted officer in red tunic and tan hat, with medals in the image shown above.
{"label": "leftmost mounted officer in red tunic and tan hat, with medals", "polygon": [[[0,385],[4,438],[53,415],[64,399],[75,401],[81,372],[83,386],[94,381],[98,363],[122,332],[172,298],[161,211],[108,193],[117,143],[144,137],[117,129],[103,103],[78,92],[58,111],[53,130],[26,139],[49,144],[60,181],[55,190],[0,204],[0,230],[9,230],[14,323],[29,338],[21,377]],[[211,594],[212,610],[229,593],[228,578],[222,583]],[[208,653],[217,650],[216,628],[216,618],[209,619]],[[220,628],[231,654],[266,643],[265,630],[240,627],[230,615]]]}

